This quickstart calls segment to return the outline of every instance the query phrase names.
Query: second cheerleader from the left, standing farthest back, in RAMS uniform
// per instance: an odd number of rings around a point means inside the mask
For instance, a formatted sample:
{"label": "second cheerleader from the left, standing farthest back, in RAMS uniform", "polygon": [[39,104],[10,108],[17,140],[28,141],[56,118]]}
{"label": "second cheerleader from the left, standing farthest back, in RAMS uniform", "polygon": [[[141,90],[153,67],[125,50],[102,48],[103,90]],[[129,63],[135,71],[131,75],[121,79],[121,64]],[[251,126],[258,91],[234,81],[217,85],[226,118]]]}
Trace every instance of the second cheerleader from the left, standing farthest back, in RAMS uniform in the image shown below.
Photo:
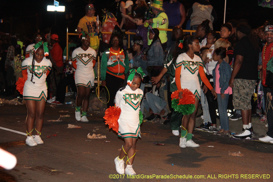
{"label": "second cheerleader from the left, standing farthest back, in RAMS uniform", "polygon": [[[91,89],[94,87],[95,74],[93,67],[96,63],[96,51],[89,47],[89,35],[82,31],[79,37],[82,45],[72,52],[72,64],[76,69],[75,83],[78,90],[75,117],[77,121],[88,122],[86,113],[89,106]],[[83,112],[81,117],[80,109],[82,104]]]}

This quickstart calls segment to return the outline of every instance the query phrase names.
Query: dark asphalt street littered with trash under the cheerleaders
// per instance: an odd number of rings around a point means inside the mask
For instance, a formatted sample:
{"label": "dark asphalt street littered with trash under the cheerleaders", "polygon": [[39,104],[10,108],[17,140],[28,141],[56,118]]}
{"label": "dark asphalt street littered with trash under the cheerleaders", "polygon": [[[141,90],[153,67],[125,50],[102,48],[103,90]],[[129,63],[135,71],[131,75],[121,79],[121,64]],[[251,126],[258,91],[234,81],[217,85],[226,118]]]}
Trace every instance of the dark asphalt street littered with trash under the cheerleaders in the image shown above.
{"label": "dark asphalt street littered with trash under the cheerleaders", "polygon": [[[26,132],[25,105],[4,104],[0,110],[1,127]],[[18,161],[12,170],[0,167],[0,181],[273,181],[272,144],[195,131],[193,140],[200,148],[180,148],[179,136],[174,136],[169,126],[152,122],[141,125],[133,163],[136,179],[117,175],[114,159],[124,141],[105,125],[104,111],[88,112],[92,114],[87,117],[89,123],[76,122],[74,112],[69,105],[52,108],[47,104],[41,135],[44,144],[35,147],[25,144],[26,136],[0,129],[0,147]],[[66,114],[71,117],[50,121]],[[81,128],[69,129],[68,124]],[[88,133],[106,138],[89,139]],[[239,151],[243,156],[229,155]]]}

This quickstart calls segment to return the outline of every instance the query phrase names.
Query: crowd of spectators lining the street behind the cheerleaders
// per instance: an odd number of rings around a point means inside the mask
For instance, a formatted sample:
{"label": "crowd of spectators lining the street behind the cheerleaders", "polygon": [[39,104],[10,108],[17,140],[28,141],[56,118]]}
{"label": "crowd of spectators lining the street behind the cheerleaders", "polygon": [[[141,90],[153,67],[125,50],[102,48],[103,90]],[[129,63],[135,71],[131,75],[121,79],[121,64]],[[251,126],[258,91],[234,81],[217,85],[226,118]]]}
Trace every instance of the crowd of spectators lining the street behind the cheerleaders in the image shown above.
{"label": "crowd of spectators lining the street behind the cheerleaders", "polygon": [[[177,90],[176,59],[184,53],[183,40],[192,36],[183,33],[181,27],[187,24],[187,29],[196,31],[193,35],[196,35],[201,49],[195,54],[202,59],[205,76],[218,94],[215,100],[215,95],[200,79],[201,93],[198,97],[201,99],[204,123],[196,129],[230,134],[227,119],[229,114],[231,120],[242,118],[243,131],[234,135],[234,138],[245,139],[251,137],[251,117],[254,115],[260,117],[261,121],[267,119],[268,136],[261,140],[273,143],[273,110],[266,108],[272,98],[272,87],[266,84],[266,68],[273,56],[273,22],[261,22],[261,26],[251,28],[245,19],[232,19],[222,24],[219,32],[216,32],[213,25],[217,14],[207,0],[195,2],[187,15],[183,4],[177,0],[164,3],[163,0],[153,0],[149,5],[145,0],[115,2],[116,14],[105,10],[102,23],[96,22],[93,4],[86,5],[86,15],[79,20],[76,29],[78,33],[84,31],[89,34],[89,46],[96,50],[97,55],[102,56],[101,73],[96,74],[101,74],[102,86],[107,86],[110,91],[108,107],[114,106],[116,91],[123,83],[129,67],[141,67],[145,76],[140,89],[146,96],[142,101],[141,111],[144,112],[145,108],[150,113],[146,120],[163,117],[164,124],[170,124],[174,135],[179,134],[177,131],[183,116],[171,108],[170,95]],[[103,35],[99,39],[101,27],[113,34]],[[126,39],[124,32],[134,32],[136,35]],[[59,35],[55,33],[37,32],[33,39],[30,37],[19,39],[12,33],[1,36],[0,94],[20,96],[16,93],[15,82],[22,77],[21,62],[32,56],[33,45],[43,40],[49,43],[50,52],[58,66],[58,69],[52,69],[47,79],[49,89],[53,91],[48,94],[48,102],[63,104],[68,85],[74,93],[72,97],[76,99],[73,81],[75,69],[69,61],[73,50],[80,46],[79,39],[70,37],[69,46],[63,52],[59,45]],[[69,51],[68,57],[66,51]],[[149,83],[152,84],[151,89],[145,87]],[[167,98],[163,94],[164,90],[167,90]],[[259,108],[251,104],[254,92],[258,93]],[[227,110],[231,112],[227,113]],[[218,115],[221,126],[217,126]]]}

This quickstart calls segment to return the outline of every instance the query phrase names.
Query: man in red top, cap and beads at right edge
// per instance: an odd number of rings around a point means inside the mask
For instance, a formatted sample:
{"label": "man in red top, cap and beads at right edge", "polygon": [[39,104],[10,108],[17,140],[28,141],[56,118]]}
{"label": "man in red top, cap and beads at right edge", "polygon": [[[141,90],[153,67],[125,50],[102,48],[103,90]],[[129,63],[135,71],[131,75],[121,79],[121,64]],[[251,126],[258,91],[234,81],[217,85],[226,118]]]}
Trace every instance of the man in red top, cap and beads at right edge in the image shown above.
{"label": "man in red top, cap and beads at right edge", "polygon": [[[261,68],[261,72],[262,72],[262,76],[261,76],[261,80],[262,80],[262,84],[263,84],[263,89],[264,89],[264,98],[265,98],[265,111],[266,112],[266,119],[268,122],[268,131],[266,132],[267,136],[259,138],[259,140],[263,141],[263,142],[270,142],[273,143],[273,109],[270,106],[272,104],[271,100],[270,100],[270,96],[268,97],[268,93],[271,93],[272,90],[270,90],[270,88],[265,84],[265,76],[266,76],[266,68],[268,66],[268,63],[272,64],[273,62],[273,54],[272,54],[272,50],[273,50],[273,25],[267,25],[265,27],[265,40],[266,40],[266,44],[262,50],[262,68]],[[271,104],[270,104],[271,103]]]}

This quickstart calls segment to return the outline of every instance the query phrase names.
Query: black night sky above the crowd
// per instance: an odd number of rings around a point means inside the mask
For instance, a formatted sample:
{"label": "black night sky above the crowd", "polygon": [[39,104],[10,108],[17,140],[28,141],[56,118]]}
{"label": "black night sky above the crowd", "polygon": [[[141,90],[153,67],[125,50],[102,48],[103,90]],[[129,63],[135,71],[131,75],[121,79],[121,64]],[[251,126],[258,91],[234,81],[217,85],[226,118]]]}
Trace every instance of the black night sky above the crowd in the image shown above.
{"label": "black night sky above the crowd", "polygon": [[[184,4],[186,10],[194,2],[193,0],[178,1]],[[63,34],[66,32],[66,26],[69,27],[69,32],[75,32],[79,19],[85,15],[84,7],[89,2],[95,5],[96,15],[97,13],[101,15],[102,8],[107,8],[112,12],[116,9],[114,0],[59,0],[59,5],[66,6],[66,12],[56,12],[57,26]],[[218,15],[214,30],[219,30],[224,18],[224,0],[210,0],[210,2]],[[0,23],[0,32],[9,33],[12,28],[12,31],[19,34],[18,37],[20,37],[26,34],[33,35],[37,29],[43,32],[54,25],[55,12],[46,11],[47,5],[53,5],[53,0],[0,0],[0,3],[0,19],[3,19],[3,23]],[[272,15],[273,9],[258,6],[257,0],[227,0],[226,21],[244,18],[248,20],[252,28],[257,28]],[[66,16],[69,18],[66,19]]]}

